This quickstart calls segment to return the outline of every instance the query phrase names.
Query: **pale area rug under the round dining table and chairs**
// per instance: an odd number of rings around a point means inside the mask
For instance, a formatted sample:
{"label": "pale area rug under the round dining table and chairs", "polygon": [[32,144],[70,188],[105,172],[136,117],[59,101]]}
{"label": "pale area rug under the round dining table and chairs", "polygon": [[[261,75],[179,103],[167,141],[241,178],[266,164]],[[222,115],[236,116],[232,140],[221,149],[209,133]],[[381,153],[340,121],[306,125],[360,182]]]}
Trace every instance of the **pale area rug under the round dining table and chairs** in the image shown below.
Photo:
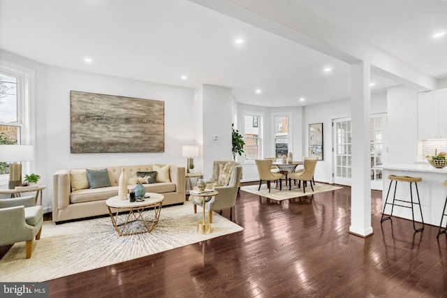
{"label": "pale area rug under the round dining table and chairs", "polygon": [[316,193],[324,193],[325,191],[335,191],[336,189],[340,189],[342,187],[333,186],[330,184],[316,184],[314,185],[314,191],[310,187],[310,184],[306,186],[306,193],[303,193],[302,186],[301,188],[297,188],[298,186],[292,186],[292,190],[288,190],[288,186],[283,185],[282,191],[279,191],[279,188],[275,189],[274,184],[272,183],[272,188],[270,189],[270,193],[268,192],[267,184],[261,185],[261,190],[258,191],[259,184],[250,185],[250,186],[242,186],[241,191],[247,191],[247,193],[254,193],[255,195],[261,195],[265,198],[269,198],[272,200],[282,201],[292,198],[304,197],[306,195],[314,195]]}

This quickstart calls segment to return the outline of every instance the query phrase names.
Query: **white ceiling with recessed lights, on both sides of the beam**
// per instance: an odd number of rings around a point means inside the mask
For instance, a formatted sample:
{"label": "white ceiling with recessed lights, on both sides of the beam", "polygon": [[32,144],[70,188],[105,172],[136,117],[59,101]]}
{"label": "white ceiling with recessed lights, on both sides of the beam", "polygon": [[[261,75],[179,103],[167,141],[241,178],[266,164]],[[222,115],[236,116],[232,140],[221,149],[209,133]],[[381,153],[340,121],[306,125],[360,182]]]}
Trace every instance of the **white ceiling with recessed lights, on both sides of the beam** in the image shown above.
{"label": "white ceiling with recessed lights, on both sides of the beam", "polygon": [[[447,36],[431,37],[447,31],[447,1],[295,3],[421,73],[447,77]],[[229,87],[238,102],[266,107],[350,96],[349,64],[187,0],[0,0],[0,47],[52,66]],[[327,66],[331,73],[323,73]],[[377,75],[372,81],[373,92],[397,84]]]}

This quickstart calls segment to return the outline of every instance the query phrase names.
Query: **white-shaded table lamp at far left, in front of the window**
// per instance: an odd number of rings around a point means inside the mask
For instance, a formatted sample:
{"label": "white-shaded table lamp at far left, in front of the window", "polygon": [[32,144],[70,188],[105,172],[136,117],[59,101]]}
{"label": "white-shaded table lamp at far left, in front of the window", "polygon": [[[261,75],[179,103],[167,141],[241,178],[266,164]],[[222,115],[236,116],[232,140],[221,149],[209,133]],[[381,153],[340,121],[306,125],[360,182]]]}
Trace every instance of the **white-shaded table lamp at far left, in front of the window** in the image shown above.
{"label": "white-shaded table lamp at far left, in front of the window", "polygon": [[22,161],[32,161],[34,147],[32,145],[0,145],[0,161],[11,162],[9,165],[8,188],[22,184]]}

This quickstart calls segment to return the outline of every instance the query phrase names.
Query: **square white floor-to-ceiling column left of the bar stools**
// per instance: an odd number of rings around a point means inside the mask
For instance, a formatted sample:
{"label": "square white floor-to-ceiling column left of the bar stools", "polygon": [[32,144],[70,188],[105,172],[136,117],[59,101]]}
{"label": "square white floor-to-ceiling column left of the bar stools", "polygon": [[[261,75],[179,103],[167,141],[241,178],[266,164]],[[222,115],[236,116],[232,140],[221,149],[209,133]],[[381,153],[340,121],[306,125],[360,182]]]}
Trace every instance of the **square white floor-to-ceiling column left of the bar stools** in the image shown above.
{"label": "square white floor-to-ceiling column left of the bar stools", "polygon": [[370,69],[370,64],[364,61],[351,66],[352,186],[349,232],[360,237],[372,234],[369,151]]}

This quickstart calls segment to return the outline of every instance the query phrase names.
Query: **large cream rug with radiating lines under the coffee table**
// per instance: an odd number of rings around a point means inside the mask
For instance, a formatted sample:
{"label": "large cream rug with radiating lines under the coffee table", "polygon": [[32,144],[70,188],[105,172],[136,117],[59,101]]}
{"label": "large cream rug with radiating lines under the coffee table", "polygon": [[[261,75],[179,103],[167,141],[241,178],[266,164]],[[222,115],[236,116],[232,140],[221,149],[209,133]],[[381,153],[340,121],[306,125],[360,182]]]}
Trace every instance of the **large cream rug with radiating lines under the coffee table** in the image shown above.
{"label": "large cream rug with radiating lines under the coffee table", "polygon": [[163,207],[158,225],[145,234],[120,237],[110,217],[61,225],[44,222],[31,259],[25,259],[25,243],[21,242],[0,260],[0,281],[48,281],[243,230],[214,213],[212,233],[199,234],[197,223],[202,219],[202,209],[198,207],[194,214],[191,203],[186,202]]}

